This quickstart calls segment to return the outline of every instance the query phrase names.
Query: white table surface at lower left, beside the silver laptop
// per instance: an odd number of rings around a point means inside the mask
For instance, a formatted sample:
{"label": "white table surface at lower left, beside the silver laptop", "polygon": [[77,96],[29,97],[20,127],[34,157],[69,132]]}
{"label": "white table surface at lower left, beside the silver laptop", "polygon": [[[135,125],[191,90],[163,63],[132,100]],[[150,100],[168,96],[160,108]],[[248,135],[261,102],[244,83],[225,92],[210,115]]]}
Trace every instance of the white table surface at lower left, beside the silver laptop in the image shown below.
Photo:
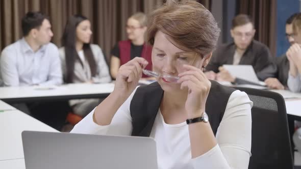
{"label": "white table surface at lower left, beside the silver laptop", "polygon": [[0,161],[24,158],[24,130],[59,132],[19,110],[0,112]]}

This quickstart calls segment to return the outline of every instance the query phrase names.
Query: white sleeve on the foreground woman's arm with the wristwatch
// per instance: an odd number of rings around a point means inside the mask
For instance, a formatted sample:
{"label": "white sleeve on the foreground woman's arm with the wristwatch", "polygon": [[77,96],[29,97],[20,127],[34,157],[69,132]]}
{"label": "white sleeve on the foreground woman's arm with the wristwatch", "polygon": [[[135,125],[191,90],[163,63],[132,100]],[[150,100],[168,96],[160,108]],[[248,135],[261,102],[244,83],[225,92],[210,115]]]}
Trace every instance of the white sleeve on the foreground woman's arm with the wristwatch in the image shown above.
{"label": "white sleeve on the foreground woman's arm with the wristwatch", "polygon": [[216,132],[217,145],[191,159],[193,168],[248,168],[251,156],[253,102],[244,92],[231,94]]}

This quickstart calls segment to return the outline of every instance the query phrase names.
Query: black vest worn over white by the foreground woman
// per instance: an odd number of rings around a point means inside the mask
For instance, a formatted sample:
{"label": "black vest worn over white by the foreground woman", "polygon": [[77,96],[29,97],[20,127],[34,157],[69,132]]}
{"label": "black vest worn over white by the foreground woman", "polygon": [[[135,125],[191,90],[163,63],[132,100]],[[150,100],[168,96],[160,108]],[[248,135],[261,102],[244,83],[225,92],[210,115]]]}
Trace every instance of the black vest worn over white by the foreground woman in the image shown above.
{"label": "black vest worn over white by the foreground woman", "polygon": [[[225,108],[231,94],[236,89],[220,85],[211,80],[211,88],[206,101],[206,112],[214,135],[222,120]],[[158,82],[140,86],[131,101],[130,111],[132,117],[134,136],[148,137],[152,131],[157,112],[159,110],[164,91]]]}

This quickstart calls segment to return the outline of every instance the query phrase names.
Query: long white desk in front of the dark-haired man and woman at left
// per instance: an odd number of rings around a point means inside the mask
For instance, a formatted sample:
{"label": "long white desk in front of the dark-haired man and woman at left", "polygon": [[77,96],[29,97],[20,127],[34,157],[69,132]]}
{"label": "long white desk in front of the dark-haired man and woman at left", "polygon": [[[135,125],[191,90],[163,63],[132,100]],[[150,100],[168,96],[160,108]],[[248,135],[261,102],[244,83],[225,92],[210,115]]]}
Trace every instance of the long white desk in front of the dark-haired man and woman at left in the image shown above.
{"label": "long white desk in front of the dark-haired man and woman at left", "polygon": [[68,100],[107,97],[114,90],[113,83],[72,83],[58,87],[1,87],[0,100],[30,102],[42,100]]}

